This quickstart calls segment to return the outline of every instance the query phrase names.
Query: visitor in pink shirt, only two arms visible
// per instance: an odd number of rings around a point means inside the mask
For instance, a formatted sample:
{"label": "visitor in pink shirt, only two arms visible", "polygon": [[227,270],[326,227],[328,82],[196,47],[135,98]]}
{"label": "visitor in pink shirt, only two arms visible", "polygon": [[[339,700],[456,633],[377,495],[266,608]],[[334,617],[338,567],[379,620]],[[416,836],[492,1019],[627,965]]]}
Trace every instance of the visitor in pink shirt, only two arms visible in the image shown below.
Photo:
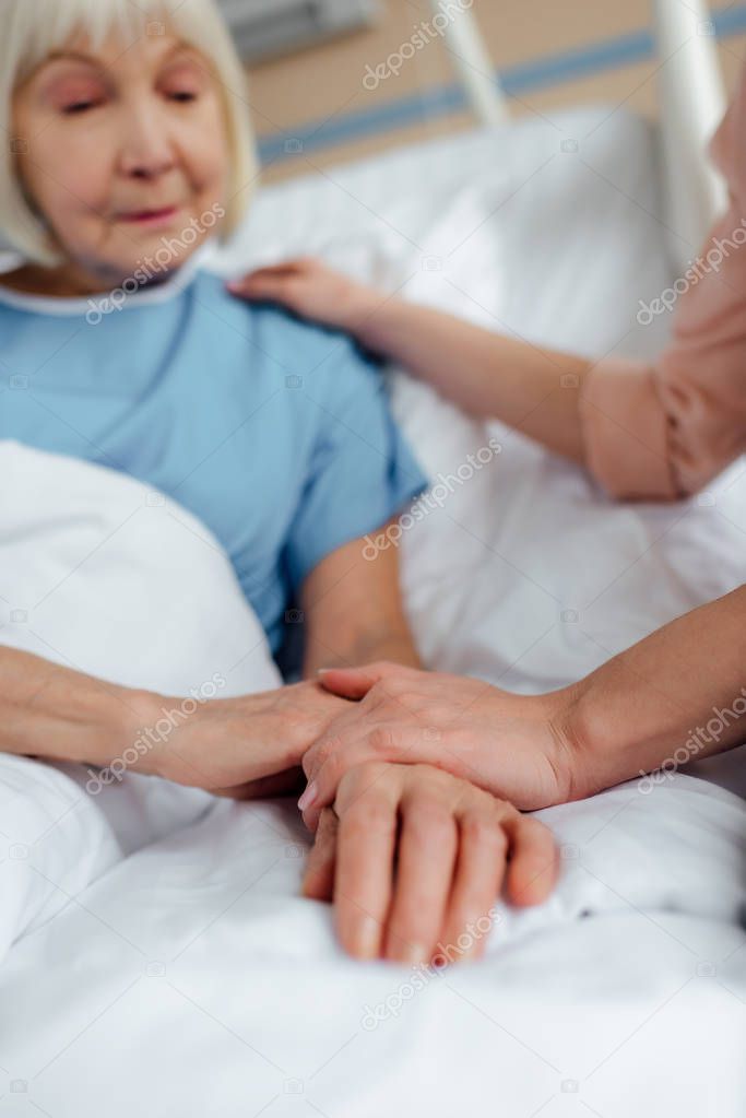
{"label": "visitor in pink shirt, only two arms visible", "polygon": [[[746,249],[733,237],[746,224],[746,69],[711,151],[730,203],[702,255],[720,267],[690,271],[673,340],[652,364],[541,350],[314,260],[233,290],[348,331],[466,410],[578,463],[613,498],[683,498],[746,449]],[[434,764],[533,809],[730,749],[746,741],[745,634],[742,587],[553,694],[385,663],[325,673],[329,693],[358,705],[304,758],[306,822],[316,826],[344,774],[371,760]]]}

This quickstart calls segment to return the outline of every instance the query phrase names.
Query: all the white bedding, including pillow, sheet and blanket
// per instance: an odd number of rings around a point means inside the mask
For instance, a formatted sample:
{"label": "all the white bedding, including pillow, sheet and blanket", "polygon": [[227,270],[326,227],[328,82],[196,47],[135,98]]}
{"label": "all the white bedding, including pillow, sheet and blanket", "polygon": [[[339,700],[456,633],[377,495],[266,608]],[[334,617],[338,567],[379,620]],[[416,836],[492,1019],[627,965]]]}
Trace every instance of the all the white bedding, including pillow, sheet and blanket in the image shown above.
{"label": "all the white bedding, including pillow, sheet and blanket", "polygon": [[[605,116],[269,191],[233,262],[260,258],[255,241],[261,258],[326,250],[394,285],[414,275],[412,295],[496,328],[652,352],[653,328],[625,335],[637,299],[670,278],[648,216],[653,149],[623,113],[584,141]],[[578,152],[560,149],[567,136]],[[489,437],[403,377],[394,394],[434,474]],[[558,684],[744,580],[737,468],[704,502],[612,508],[576,471],[499,437],[495,464],[403,542],[410,613],[438,666]],[[183,510],[107,471],[50,468],[12,445],[0,458],[12,479],[0,638],[172,694],[216,672],[231,693],[271,685],[224,558]],[[17,609],[26,620],[10,620]],[[0,822],[0,888],[26,890],[0,917],[0,947],[10,917],[32,921],[0,968],[0,1118],[451,1118],[486,1101],[509,1118],[744,1112],[746,804],[710,781],[678,774],[650,795],[632,781],[542,813],[563,849],[555,897],[500,909],[484,964],[409,997],[409,972],[348,963],[328,910],[298,898],[306,837],[291,805],[126,778],[117,795],[140,814],[125,827],[114,797],[78,797],[68,769],[3,764],[0,787],[41,773],[49,786],[6,795],[12,827]],[[88,861],[70,865],[75,850]]]}

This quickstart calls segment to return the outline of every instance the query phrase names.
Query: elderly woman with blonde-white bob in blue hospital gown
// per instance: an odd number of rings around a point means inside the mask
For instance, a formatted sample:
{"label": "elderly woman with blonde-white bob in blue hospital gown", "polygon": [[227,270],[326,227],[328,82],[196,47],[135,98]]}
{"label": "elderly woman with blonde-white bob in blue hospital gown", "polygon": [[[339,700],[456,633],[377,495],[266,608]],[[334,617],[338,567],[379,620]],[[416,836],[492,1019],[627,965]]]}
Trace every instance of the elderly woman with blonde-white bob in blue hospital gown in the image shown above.
{"label": "elderly woman with blonde-white bob in blue hospital gown", "polygon": [[[199,268],[256,168],[214,3],[170,8],[3,4],[0,233],[21,260],[0,276],[0,360],[29,390],[3,395],[0,438],[125,471],[200,517],[275,653],[290,607],[305,616],[306,679],[380,657],[417,666],[395,551],[365,563],[356,541],[425,480],[346,339],[247,306]],[[0,650],[8,752],[107,765],[164,701]],[[138,770],[269,792],[347,705],[315,682],[212,702]],[[355,954],[427,961],[490,909],[508,853],[514,899],[552,883],[548,833],[449,774],[364,768],[336,798],[336,874],[317,859],[307,888],[336,893]]]}

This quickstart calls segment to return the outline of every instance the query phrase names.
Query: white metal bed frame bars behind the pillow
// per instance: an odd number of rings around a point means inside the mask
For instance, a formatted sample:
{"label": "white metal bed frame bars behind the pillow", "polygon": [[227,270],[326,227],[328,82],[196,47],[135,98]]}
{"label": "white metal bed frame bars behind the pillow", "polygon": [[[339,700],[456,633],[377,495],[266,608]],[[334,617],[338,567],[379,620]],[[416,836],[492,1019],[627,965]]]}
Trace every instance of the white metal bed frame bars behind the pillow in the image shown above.
{"label": "white metal bed frame bars behind the pillow", "polygon": [[[430,2],[434,13],[443,11],[442,0]],[[725,184],[706,152],[726,96],[707,0],[651,0],[651,8],[666,215],[676,234],[672,255],[683,267],[726,203]],[[509,98],[475,13],[463,9],[449,19],[444,35],[477,119],[507,124]]]}

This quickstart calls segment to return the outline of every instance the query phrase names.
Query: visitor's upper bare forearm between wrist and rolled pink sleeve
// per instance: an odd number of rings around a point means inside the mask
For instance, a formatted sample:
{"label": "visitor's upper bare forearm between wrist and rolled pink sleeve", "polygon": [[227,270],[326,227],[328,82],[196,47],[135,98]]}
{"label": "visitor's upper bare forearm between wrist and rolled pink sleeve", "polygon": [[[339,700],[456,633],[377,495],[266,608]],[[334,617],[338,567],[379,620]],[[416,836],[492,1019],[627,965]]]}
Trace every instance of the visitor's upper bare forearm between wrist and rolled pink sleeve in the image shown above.
{"label": "visitor's upper bare forearm between wrist and rolled pink sleeve", "polygon": [[390,300],[352,326],[373,352],[403,364],[472,415],[500,419],[551,451],[584,461],[580,390],[589,361]]}

